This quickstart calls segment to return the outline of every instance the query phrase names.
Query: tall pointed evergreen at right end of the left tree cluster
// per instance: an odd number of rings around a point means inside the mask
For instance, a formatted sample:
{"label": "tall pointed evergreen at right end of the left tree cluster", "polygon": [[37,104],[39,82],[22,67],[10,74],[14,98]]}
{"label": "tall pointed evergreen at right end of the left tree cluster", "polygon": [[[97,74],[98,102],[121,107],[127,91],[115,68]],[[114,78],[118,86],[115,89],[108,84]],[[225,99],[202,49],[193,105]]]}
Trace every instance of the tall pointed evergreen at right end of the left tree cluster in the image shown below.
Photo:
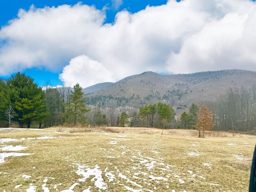
{"label": "tall pointed evergreen at right end of the left tree cluster", "polygon": [[87,117],[85,113],[89,110],[86,108],[86,100],[83,99],[82,87],[79,84],[74,86],[74,91],[70,94],[70,103],[67,103],[66,122],[70,124],[86,124]]}

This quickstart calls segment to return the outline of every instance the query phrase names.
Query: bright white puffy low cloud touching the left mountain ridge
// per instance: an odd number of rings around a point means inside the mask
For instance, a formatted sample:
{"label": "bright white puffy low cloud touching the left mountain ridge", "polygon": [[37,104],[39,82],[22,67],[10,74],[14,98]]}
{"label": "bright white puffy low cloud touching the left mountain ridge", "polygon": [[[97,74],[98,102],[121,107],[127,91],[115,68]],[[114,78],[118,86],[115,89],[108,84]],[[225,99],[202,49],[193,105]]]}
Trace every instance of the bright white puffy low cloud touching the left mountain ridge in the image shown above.
{"label": "bright white puffy low cloud touching the left mountain ridge", "polygon": [[100,62],[91,60],[88,56],[80,55],[70,60],[65,66],[60,79],[66,85],[78,83],[81,87],[88,87],[102,82],[113,82],[113,73]]}

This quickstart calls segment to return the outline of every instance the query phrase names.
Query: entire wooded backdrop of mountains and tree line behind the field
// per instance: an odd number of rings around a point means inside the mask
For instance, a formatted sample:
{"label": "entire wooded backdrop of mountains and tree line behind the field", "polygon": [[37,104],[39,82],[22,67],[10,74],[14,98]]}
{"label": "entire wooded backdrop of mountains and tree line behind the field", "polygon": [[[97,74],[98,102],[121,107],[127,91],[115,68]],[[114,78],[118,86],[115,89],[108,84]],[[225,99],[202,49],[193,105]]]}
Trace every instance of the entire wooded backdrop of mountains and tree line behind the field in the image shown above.
{"label": "entire wooded backdrop of mountains and tree line behind the field", "polygon": [[42,90],[20,73],[6,82],[0,80],[0,126],[194,129],[202,105],[212,113],[214,130],[255,130],[256,72],[144,72],[85,89],[76,84]]}

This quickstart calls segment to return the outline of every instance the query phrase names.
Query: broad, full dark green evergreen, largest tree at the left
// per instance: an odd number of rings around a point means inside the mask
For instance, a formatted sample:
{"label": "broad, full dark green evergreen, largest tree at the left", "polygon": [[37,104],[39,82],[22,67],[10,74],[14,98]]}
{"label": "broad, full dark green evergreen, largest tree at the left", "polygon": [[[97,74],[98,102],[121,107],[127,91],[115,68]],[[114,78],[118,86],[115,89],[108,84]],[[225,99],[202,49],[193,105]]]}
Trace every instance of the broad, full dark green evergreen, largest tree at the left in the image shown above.
{"label": "broad, full dark green evergreen, largest tree at the left", "polygon": [[14,120],[20,127],[32,121],[40,121],[46,116],[45,94],[34,80],[24,73],[18,72],[6,81],[10,103],[17,114]]}

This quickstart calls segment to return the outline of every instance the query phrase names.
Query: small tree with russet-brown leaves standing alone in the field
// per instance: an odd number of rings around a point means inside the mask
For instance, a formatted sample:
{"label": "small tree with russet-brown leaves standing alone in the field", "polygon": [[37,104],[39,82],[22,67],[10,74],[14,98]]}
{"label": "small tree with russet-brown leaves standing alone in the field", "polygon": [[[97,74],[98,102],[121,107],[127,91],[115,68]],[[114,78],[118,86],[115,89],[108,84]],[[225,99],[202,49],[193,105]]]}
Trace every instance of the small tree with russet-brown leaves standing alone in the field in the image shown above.
{"label": "small tree with russet-brown leaves standing alone in the field", "polygon": [[[209,131],[214,126],[212,113],[203,105],[197,114],[198,123],[194,126],[198,130],[199,137],[204,137],[205,131]],[[202,135],[201,135],[202,132]]]}

